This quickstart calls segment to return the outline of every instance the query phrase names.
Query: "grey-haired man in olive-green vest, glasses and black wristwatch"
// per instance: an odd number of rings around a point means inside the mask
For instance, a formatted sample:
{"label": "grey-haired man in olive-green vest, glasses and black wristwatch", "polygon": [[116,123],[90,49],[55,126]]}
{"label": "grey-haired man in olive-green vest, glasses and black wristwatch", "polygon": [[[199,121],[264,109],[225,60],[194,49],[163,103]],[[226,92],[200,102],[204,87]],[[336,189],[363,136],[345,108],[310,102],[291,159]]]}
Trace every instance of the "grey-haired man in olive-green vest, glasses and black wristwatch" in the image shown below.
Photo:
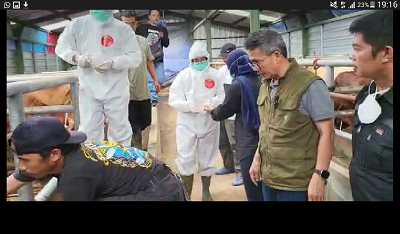
{"label": "grey-haired man in olive-green vest, glasses and black wristwatch", "polygon": [[287,58],[278,32],[260,29],[245,47],[253,69],[263,77],[253,182],[263,186],[264,201],[324,200],[335,134],[325,82]]}

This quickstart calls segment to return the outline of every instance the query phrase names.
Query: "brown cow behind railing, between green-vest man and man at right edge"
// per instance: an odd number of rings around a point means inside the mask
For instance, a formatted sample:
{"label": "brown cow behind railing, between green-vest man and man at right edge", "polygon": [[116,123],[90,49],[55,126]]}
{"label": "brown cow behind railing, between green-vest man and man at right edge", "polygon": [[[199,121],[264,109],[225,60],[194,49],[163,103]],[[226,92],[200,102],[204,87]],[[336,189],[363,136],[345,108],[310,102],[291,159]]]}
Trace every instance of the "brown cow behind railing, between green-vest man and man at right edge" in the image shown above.
{"label": "brown cow behind railing, between green-vest man and man at right edge", "polygon": [[[335,78],[335,87],[347,87],[347,86],[365,86],[371,82],[371,79],[359,77],[355,71],[341,72]],[[348,94],[348,95],[356,95]],[[353,110],[355,108],[354,101],[343,98],[332,98],[335,104],[335,111],[338,110]],[[353,128],[353,117],[341,117],[335,118],[335,126],[342,128],[343,131],[351,133]]]}

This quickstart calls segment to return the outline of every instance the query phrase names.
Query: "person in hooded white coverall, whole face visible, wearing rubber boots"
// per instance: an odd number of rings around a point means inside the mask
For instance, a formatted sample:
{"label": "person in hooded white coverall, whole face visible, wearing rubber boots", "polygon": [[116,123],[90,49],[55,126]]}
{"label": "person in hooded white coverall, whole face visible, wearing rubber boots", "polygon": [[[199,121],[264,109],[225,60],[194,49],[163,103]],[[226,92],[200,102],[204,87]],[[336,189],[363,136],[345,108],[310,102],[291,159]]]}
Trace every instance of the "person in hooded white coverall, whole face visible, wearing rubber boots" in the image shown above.
{"label": "person in hooded white coverall, whole face visible, wearing rubber boots", "polygon": [[189,51],[190,67],[181,71],[169,90],[169,105],[178,111],[175,160],[189,196],[193,175],[201,175],[203,201],[212,201],[211,175],[218,155],[219,122],[204,111],[225,98],[218,71],[210,67],[206,45],[196,41]]}

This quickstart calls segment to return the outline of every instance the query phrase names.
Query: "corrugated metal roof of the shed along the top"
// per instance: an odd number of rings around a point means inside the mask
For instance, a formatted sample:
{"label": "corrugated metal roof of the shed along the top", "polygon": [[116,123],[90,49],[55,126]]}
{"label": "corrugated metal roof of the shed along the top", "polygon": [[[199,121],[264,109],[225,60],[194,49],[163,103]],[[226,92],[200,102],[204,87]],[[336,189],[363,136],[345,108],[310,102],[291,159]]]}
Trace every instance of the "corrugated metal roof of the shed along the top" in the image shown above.
{"label": "corrugated metal roof of the shed along the top", "polygon": [[[115,10],[118,12],[117,10]],[[139,19],[147,21],[148,10],[135,10]],[[205,18],[205,10],[162,10],[167,22],[181,22],[184,20],[192,20],[194,22],[202,21]],[[236,28],[242,31],[249,31],[250,10],[210,10],[210,20],[213,25],[229,28]],[[36,25],[45,27],[48,25],[59,24],[59,28],[53,28],[54,32],[62,32],[67,21],[72,18],[80,17],[89,13],[89,10],[7,10],[7,19],[16,23],[22,22],[27,26]],[[286,31],[292,28],[297,28],[299,20],[294,16],[297,13],[307,13],[308,23],[320,21],[327,18],[335,17],[340,14],[339,11],[300,11],[300,10],[260,10],[260,23],[262,27],[271,25],[281,21],[283,28],[281,31]],[[340,14],[339,14],[340,13]],[[117,13],[116,13],[117,15]],[[66,21],[66,22],[63,22]],[[62,23],[63,22],[63,23]],[[279,23],[278,23],[279,24]],[[279,26],[279,25],[278,25]]]}

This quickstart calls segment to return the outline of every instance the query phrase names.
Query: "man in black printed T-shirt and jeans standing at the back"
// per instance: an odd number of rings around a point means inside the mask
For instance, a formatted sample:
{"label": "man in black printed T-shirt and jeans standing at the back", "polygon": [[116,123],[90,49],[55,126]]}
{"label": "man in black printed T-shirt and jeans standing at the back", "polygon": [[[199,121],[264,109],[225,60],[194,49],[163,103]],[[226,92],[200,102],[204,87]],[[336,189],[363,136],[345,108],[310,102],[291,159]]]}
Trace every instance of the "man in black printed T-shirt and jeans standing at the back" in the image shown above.
{"label": "man in black printed T-shirt and jeans standing at the back", "polygon": [[[136,28],[135,33],[137,35],[143,36],[147,39],[150,44],[151,52],[154,56],[154,66],[156,68],[157,79],[162,84],[165,81],[165,71],[164,71],[164,47],[169,46],[168,30],[164,21],[160,20],[162,16],[161,10],[149,10],[149,23],[141,24]],[[154,81],[148,74],[148,81],[151,93],[151,99],[153,106],[158,103],[157,90],[154,85]]]}

